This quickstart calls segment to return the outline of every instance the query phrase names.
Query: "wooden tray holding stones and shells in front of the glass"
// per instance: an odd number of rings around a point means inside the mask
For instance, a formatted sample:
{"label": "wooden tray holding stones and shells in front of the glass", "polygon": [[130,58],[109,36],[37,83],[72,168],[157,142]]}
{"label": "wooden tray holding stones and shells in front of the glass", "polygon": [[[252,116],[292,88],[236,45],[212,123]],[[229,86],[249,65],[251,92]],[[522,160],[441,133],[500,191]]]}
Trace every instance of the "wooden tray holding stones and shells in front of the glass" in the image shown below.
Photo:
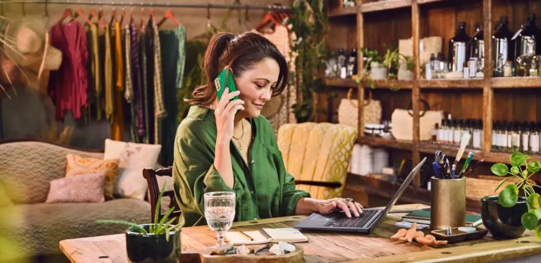
{"label": "wooden tray holding stones and shells in front of the glass", "polygon": [[181,255],[180,263],[299,263],[305,262],[304,260],[304,250],[300,246],[296,246],[297,249],[293,252],[282,255],[241,255],[241,254],[230,254],[230,255],[210,255],[210,252],[213,249],[208,249],[207,251],[194,251],[194,252],[184,252]]}

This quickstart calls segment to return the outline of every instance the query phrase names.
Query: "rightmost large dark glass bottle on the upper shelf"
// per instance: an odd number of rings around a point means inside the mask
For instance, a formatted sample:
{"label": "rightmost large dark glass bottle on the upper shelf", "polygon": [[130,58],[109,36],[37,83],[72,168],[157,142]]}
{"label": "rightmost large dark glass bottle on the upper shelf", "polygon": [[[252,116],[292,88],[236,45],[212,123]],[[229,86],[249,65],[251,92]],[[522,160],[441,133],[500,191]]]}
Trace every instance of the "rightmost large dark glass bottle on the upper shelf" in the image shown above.
{"label": "rightmost large dark glass bottle on the upper shelf", "polygon": [[530,14],[526,22],[517,31],[517,34],[514,35],[512,40],[514,42],[514,60],[526,54],[536,54],[537,28],[535,27],[535,21],[536,15]]}

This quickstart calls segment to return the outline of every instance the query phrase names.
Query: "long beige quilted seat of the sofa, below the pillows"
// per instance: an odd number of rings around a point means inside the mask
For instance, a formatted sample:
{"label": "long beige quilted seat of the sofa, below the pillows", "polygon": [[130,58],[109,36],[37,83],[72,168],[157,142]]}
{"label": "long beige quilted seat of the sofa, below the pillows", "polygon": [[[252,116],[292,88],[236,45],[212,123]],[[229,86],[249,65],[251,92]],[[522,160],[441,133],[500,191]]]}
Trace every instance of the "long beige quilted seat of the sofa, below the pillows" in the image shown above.
{"label": "long beige quilted seat of the sofa, below the pillows", "polygon": [[16,205],[4,210],[11,226],[1,225],[17,238],[28,256],[61,253],[58,242],[64,239],[120,234],[126,226],[102,225],[102,219],[150,222],[150,203],[136,199],[115,199],[103,203],[36,203]]}

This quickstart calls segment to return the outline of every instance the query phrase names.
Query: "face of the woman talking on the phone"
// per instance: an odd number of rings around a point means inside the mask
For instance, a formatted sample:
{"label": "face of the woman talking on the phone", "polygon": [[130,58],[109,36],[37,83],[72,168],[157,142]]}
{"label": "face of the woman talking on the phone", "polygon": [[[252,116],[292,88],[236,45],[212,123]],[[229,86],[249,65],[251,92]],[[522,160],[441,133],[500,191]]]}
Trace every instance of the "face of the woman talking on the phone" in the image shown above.
{"label": "face of the woman talking on the phone", "polygon": [[235,77],[236,89],[240,91],[239,99],[244,101],[245,108],[239,114],[249,118],[258,117],[263,105],[271,99],[279,74],[278,63],[272,58],[265,58],[241,76]]}

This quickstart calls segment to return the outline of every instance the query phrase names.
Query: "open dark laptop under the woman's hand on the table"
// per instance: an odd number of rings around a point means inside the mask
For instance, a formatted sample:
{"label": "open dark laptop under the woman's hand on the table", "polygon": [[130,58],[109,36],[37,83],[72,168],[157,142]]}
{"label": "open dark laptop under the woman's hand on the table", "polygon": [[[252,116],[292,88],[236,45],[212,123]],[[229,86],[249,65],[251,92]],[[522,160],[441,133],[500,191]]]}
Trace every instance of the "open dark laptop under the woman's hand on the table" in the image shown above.
{"label": "open dark laptop under the woman's hand on the table", "polygon": [[404,193],[406,187],[410,185],[413,177],[419,172],[425,161],[426,157],[413,168],[385,209],[362,209],[362,214],[357,218],[355,216],[348,218],[346,214],[344,214],[344,211],[325,215],[313,213],[308,216],[307,219],[300,221],[295,228],[320,231],[371,233],[374,228],[378,226],[379,222],[385,218],[387,213],[391,211],[391,208],[397,202],[398,198],[400,198],[400,195]]}

